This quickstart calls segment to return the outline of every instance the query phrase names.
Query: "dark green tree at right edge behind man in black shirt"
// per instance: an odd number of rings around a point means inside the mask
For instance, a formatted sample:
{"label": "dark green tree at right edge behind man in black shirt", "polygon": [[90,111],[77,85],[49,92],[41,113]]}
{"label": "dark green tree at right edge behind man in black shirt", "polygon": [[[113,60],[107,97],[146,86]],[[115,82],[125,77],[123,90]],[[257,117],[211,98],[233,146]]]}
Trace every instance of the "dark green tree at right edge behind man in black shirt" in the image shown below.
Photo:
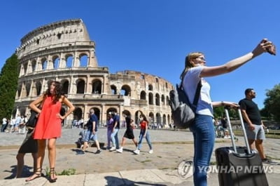
{"label": "dark green tree at right edge behind man in black shirt", "polygon": [[271,90],[267,90],[265,98],[265,110],[268,116],[272,116],[275,121],[280,121],[280,84],[275,85]]}

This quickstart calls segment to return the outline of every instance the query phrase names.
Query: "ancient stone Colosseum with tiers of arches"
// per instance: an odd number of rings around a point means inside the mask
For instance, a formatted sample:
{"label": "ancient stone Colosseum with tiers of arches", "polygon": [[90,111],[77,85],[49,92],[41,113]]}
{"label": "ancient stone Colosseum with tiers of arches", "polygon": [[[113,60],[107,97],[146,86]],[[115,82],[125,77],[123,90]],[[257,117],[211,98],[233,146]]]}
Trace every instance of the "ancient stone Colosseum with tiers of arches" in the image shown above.
{"label": "ancient stone Colosseum with tiers of arches", "polygon": [[[109,67],[99,67],[95,43],[81,19],[34,29],[21,39],[17,55],[20,75],[15,110],[21,115],[29,117],[29,103],[48,88],[49,80],[55,80],[61,82],[64,93],[76,107],[64,121],[64,127],[71,126],[73,119],[86,121],[91,108],[99,124],[106,123],[106,114],[111,111],[129,112],[136,124],[141,112],[151,124],[172,123],[168,102],[174,86],[152,74],[133,70],[111,74]],[[62,107],[62,114],[66,109]]]}

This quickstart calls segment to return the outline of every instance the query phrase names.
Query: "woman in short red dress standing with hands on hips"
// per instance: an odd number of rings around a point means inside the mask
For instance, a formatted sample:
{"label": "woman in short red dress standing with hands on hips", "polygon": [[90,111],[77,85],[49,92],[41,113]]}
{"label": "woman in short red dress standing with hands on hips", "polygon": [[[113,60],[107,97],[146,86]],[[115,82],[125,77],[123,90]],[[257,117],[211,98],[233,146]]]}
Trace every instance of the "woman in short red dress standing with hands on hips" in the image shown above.
{"label": "woman in short red dress standing with hands on hips", "polygon": [[[69,107],[64,116],[60,115],[62,103]],[[42,105],[41,109],[36,105]],[[29,107],[36,111],[38,115],[38,122],[34,129],[34,139],[38,140],[38,158],[37,167],[34,170],[34,175],[27,178],[26,181],[34,180],[41,176],[43,159],[45,157],[45,146],[48,140],[48,159],[50,163],[50,182],[57,180],[55,175],[55,159],[57,138],[61,136],[62,119],[65,119],[75,107],[69,102],[62,93],[62,86],[58,81],[50,81],[48,83],[48,90],[43,95],[30,103]],[[34,167],[35,168],[35,167]]]}

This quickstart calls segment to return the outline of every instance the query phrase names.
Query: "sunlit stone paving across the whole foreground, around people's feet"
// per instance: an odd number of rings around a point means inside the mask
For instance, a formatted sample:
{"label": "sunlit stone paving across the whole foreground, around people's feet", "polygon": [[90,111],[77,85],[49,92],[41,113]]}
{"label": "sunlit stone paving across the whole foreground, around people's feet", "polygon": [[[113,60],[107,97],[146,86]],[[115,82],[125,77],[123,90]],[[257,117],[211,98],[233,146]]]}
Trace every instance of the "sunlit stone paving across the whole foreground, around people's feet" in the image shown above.
{"label": "sunlit stone paving across the whole foreground, around people's feet", "polygon": [[[148,153],[148,145],[144,142],[141,153],[135,155],[134,145],[127,140],[122,154],[102,150],[101,154],[94,154],[96,147],[87,149],[87,153],[78,154],[75,142],[80,129],[63,129],[62,138],[57,140],[57,173],[73,169],[76,175],[59,175],[55,183],[46,178],[38,178],[32,182],[25,182],[26,178],[15,177],[18,147],[25,135],[15,133],[0,133],[0,185],[193,185],[193,178],[181,178],[178,173],[179,164],[183,160],[193,159],[193,136],[188,131],[153,131],[153,154]],[[123,132],[119,133],[119,140]],[[134,131],[135,136],[139,130]],[[106,130],[99,130],[99,141],[106,142]],[[237,145],[243,145],[239,136]],[[230,140],[217,138],[216,147],[230,146]],[[280,140],[267,139],[265,152],[272,159],[280,159]],[[216,162],[215,156],[211,162]],[[32,171],[31,155],[25,157],[24,177]],[[43,168],[48,168],[46,154]],[[267,173],[269,185],[279,185],[280,166],[271,166],[272,173]],[[218,175],[209,173],[209,185],[218,185]]]}

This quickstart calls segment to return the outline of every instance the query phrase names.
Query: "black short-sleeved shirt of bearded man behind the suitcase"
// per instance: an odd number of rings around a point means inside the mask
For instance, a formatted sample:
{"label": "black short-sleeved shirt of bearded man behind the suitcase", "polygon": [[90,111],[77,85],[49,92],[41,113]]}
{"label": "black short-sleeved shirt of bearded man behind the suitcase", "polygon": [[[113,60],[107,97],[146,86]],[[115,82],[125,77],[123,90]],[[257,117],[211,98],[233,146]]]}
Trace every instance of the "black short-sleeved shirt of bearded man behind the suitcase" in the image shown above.
{"label": "black short-sleeved shirt of bearded man behind the suitcase", "polygon": [[246,114],[251,122],[255,125],[261,125],[262,119],[260,117],[260,111],[258,109],[258,105],[255,104],[252,100],[248,100],[244,98],[239,101],[240,109],[246,110]]}

